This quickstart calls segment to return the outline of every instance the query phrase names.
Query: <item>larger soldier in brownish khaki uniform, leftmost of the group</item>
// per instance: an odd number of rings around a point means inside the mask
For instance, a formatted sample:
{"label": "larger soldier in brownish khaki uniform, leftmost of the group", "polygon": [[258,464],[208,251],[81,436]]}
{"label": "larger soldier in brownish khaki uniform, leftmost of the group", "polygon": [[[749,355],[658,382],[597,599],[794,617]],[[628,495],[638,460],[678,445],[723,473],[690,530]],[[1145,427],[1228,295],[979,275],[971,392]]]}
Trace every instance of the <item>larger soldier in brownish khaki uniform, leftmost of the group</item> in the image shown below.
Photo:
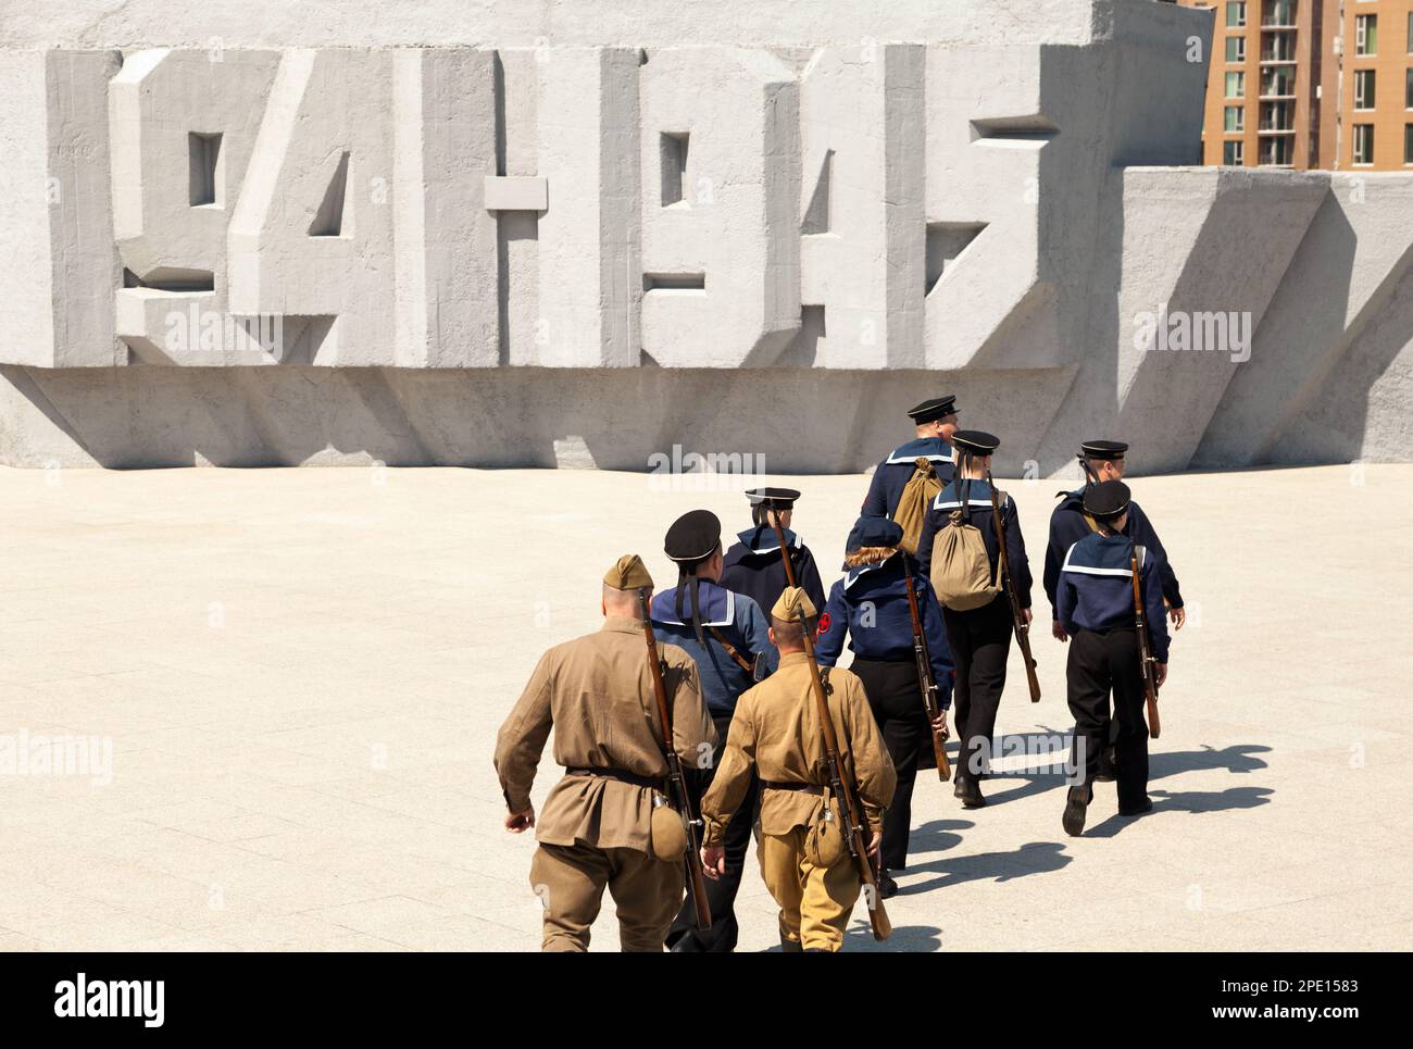
{"label": "larger soldier in brownish khaki uniform, leftmost of the group", "polygon": [[[653,577],[637,554],[603,577],[603,628],[544,653],[496,738],[506,830],[536,827],[530,884],[544,903],[544,950],[585,951],[608,886],[623,950],[660,951],[682,902],[681,860],[653,854],[651,811],[667,775],[663,728],[639,611]],[[695,768],[716,744],[697,664],[660,645],[673,711],[673,741]],[[536,823],[530,786],[554,727],[565,776]]]}

